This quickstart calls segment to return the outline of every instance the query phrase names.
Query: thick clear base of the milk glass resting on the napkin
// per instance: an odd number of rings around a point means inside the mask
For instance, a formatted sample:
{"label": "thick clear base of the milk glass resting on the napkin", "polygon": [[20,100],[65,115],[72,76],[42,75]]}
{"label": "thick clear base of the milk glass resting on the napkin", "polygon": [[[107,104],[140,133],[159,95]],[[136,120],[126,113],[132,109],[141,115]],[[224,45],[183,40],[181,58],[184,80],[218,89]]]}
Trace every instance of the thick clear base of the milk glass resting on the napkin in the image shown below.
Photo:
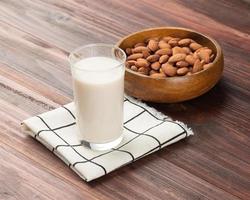
{"label": "thick clear base of the milk glass resting on the napkin", "polygon": [[104,150],[110,150],[116,146],[118,146],[121,141],[122,141],[123,136],[119,137],[118,139],[111,141],[111,142],[107,142],[107,143],[92,143],[92,142],[87,142],[84,140],[81,140],[81,143],[92,149],[92,150],[96,150],[96,151],[104,151]]}

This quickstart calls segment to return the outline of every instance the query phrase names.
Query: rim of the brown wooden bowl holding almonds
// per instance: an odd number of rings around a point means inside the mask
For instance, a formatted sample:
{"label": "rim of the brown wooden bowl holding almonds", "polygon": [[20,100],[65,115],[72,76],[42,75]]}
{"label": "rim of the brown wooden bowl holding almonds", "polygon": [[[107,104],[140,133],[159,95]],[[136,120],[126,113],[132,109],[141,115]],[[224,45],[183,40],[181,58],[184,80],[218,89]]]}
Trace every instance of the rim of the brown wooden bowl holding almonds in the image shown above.
{"label": "rim of the brown wooden bowl holding almonds", "polygon": [[[212,64],[218,62],[218,60],[219,60],[220,57],[222,56],[222,49],[221,49],[221,46],[219,45],[219,43],[218,43],[215,39],[211,38],[210,36],[207,36],[206,34],[203,34],[203,33],[200,33],[200,32],[198,32],[198,31],[195,31],[195,30],[193,30],[193,29],[184,28],[184,27],[175,27],[175,26],[162,26],[162,27],[154,27],[154,28],[142,29],[142,30],[140,30],[140,31],[136,31],[136,32],[133,32],[133,33],[127,35],[127,36],[122,37],[122,38],[116,43],[116,45],[120,48],[121,43],[122,43],[125,39],[127,39],[127,38],[129,38],[129,37],[131,37],[131,36],[133,36],[133,35],[136,35],[136,34],[142,33],[142,32],[146,32],[146,31],[162,30],[162,29],[178,29],[178,30],[183,30],[183,31],[188,31],[188,32],[194,32],[194,33],[196,33],[196,34],[198,34],[198,35],[201,35],[201,36],[207,38],[209,41],[211,41],[211,42],[213,43],[213,45],[214,45],[215,48],[216,48],[216,56],[215,56],[215,58],[214,58]],[[215,65],[212,65],[211,68],[213,68],[214,66],[215,66]],[[194,73],[194,74],[189,75],[188,77],[199,76],[199,75],[202,74],[202,73],[206,73],[209,69],[210,69],[210,68],[205,69],[205,70],[201,70],[201,71],[199,71],[199,72],[196,72],[196,73]],[[127,68],[126,68],[126,71],[128,71],[129,73],[132,73],[132,74],[134,74],[134,75],[141,76],[141,77],[143,77],[143,78],[153,79],[153,80],[169,80],[169,79],[171,79],[171,80],[173,80],[173,79],[180,80],[180,79],[183,79],[184,77],[186,78],[186,76],[174,76],[174,77],[167,77],[167,78],[165,78],[165,77],[164,77],[164,78],[153,78],[153,77],[151,77],[151,76],[139,74],[139,73],[134,72],[134,71],[132,71],[132,70],[130,70],[130,69],[127,69]]]}

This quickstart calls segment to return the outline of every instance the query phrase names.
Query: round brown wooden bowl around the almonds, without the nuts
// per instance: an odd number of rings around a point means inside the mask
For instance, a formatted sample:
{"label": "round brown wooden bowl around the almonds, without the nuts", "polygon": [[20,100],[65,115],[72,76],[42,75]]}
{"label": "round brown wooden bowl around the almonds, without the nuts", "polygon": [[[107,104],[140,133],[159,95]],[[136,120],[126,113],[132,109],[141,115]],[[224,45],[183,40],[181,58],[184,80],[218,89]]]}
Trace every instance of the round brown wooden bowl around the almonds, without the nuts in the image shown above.
{"label": "round brown wooden bowl around the almonds, without the nuts", "polygon": [[130,69],[125,73],[125,92],[144,101],[157,103],[181,102],[198,97],[210,90],[220,79],[223,71],[223,53],[219,44],[212,38],[193,30],[177,27],[160,27],[142,30],[122,38],[118,43],[121,49],[132,47],[150,37],[173,36],[192,38],[207,46],[215,53],[212,66],[189,76],[156,79],[139,74]]}

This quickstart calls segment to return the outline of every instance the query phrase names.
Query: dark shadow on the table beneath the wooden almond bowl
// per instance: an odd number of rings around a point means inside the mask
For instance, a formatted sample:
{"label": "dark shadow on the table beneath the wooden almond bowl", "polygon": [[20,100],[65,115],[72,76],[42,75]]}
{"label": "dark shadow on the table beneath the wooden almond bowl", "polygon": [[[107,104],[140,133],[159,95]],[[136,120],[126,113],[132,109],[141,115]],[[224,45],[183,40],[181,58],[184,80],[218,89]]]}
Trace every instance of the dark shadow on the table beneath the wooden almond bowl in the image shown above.
{"label": "dark shadow on the table beneath the wooden almond bowl", "polygon": [[199,123],[223,110],[223,105],[228,101],[228,93],[229,88],[222,79],[210,91],[193,100],[170,104],[148,103],[148,105],[173,119],[191,124]]}

